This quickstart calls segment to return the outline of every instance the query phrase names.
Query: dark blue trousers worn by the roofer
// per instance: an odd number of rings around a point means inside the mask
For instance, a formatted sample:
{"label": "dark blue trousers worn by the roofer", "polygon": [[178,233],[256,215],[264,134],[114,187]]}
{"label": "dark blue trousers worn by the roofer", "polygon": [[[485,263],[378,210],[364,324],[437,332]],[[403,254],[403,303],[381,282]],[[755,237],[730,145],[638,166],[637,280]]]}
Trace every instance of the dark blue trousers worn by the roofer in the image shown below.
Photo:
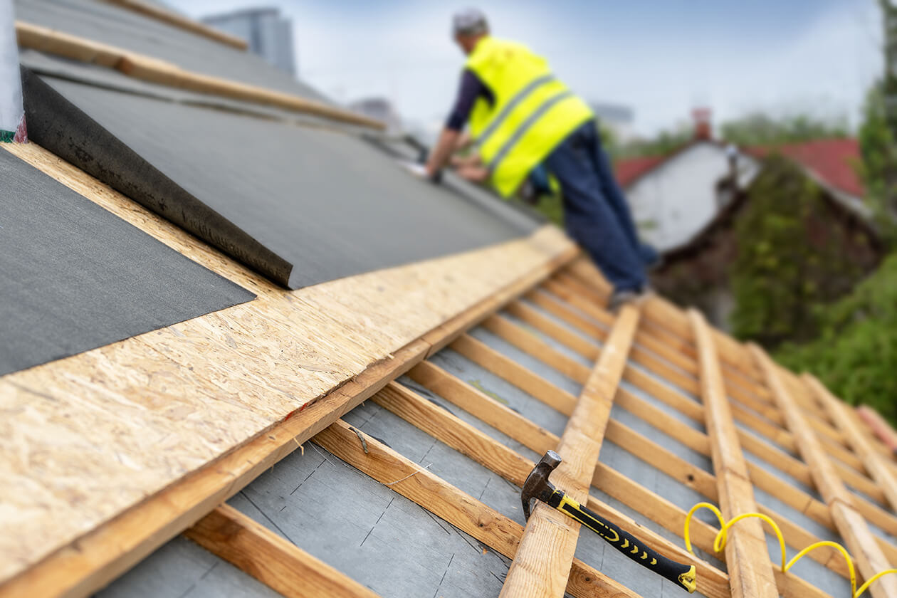
{"label": "dark blue trousers worn by the roofer", "polygon": [[589,121],[573,131],[544,161],[561,184],[564,227],[597,264],[615,290],[640,290],[645,265],[657,259],[643,245],[623,190],[597,131]]}

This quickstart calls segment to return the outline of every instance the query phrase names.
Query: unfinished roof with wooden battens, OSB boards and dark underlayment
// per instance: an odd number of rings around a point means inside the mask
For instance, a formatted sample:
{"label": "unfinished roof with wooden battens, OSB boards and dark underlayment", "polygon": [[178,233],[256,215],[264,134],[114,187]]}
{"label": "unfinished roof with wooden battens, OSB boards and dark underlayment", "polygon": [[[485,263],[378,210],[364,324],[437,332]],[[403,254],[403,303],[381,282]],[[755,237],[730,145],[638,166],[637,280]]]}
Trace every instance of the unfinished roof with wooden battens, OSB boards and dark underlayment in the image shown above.
{"label": "unfinished roof with wooden battens, OSB boards and dark underlayment", "polygon": [[[17,0],[36,143],[0,147],[0,598],[852,594],[897,462],[816,379],[137,0]],[[7,240],[7,235],[8,239]],[[14,251],[13,251],[14,247]],[[6,311],[10,310],[10,311]],[[897,577],[869,588],[897,598]]]}

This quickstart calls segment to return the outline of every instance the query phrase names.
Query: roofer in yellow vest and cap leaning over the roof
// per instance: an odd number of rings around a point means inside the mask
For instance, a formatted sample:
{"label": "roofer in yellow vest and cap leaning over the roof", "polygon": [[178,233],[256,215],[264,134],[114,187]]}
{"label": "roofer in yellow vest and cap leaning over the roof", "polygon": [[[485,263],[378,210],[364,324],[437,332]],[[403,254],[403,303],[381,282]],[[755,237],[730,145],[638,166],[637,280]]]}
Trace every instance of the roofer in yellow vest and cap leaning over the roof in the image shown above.
{"label": "roofer in yellow vest and cap leaning over the roof", "polygon": [[[614,285],[608,307],[638,299],[647,290],[645,266],[657,254],[639,241],[591,109],[553,76],[543,57],[492,38],[480,11],[457,13],[453,33],[466,67],[426,175],[435,178],[452,161],[462,176],[488,179],[508,196],[544,163],[560,183],[568,234]],[[468,121],[476,152],[453,160]]]}

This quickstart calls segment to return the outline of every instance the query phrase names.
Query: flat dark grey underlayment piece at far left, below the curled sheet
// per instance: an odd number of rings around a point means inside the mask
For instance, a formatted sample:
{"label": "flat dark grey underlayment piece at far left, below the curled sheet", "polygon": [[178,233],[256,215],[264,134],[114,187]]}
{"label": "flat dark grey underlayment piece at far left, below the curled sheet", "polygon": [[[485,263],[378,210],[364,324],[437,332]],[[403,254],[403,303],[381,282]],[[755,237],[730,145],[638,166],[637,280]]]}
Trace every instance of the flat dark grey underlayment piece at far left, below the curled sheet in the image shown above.
{"label": "flat dark grey underlayment piece at far left, below the curled sheet", "polygon": [[0,151],[0,376],[255,298]]}

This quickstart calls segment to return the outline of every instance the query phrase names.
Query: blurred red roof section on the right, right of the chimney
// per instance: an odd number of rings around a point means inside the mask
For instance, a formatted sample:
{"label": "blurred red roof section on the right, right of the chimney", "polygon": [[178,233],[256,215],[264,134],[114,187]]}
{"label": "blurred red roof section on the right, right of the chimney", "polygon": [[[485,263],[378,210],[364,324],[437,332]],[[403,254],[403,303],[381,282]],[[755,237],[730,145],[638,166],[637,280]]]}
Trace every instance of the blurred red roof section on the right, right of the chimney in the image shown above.
{"label": "blurred red roof section on the right, right of the chimney", "polygon": [[862,197],[865,195],[863,182],[857,174],[856,164],[860,160],[859,143],[856,139],[820,139],[804,143],[789,143],[776,148],[745,148],[758,158],[776,151],[796,161],[828,185],[840,191]]}

